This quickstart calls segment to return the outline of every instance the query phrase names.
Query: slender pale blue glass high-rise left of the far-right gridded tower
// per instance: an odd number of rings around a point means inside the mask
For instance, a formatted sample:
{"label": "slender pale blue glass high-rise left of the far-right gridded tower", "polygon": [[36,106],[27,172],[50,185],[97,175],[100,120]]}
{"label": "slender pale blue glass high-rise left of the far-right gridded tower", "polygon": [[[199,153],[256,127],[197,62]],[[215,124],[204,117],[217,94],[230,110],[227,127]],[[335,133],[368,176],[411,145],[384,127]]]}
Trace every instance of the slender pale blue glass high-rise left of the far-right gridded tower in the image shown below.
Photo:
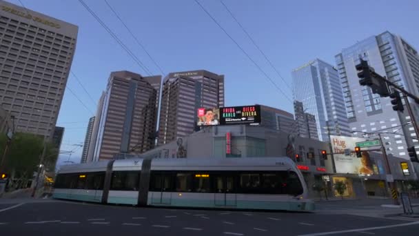
{"label": "slender pale blue glass high-rise left of the far-right gridded tower", "polygon": [[325,61],[315,59],[292,71],[294,99],[301,101],[305,112],[316,117],[318,138],[332,135],[350,136],[338,71]]}

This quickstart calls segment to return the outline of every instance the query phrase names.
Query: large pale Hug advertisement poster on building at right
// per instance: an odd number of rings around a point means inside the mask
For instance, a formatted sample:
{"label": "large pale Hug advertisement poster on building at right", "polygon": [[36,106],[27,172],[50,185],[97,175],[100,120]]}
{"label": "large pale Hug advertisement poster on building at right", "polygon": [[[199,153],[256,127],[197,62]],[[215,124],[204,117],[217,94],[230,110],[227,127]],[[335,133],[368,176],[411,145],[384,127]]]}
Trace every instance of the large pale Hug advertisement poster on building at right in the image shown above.
{"label": "large pale Hug advertisement poster on building at right", "polygon": [[[356,142],[366,141],[358,137],[330,136],[331,148],[334,153],[336,173],[374,175],[374,168],[368,152],[361,152],[362,157],[356,157],[354,152]],[[345,155],[345,149],[351,150],[349,155]]]}

